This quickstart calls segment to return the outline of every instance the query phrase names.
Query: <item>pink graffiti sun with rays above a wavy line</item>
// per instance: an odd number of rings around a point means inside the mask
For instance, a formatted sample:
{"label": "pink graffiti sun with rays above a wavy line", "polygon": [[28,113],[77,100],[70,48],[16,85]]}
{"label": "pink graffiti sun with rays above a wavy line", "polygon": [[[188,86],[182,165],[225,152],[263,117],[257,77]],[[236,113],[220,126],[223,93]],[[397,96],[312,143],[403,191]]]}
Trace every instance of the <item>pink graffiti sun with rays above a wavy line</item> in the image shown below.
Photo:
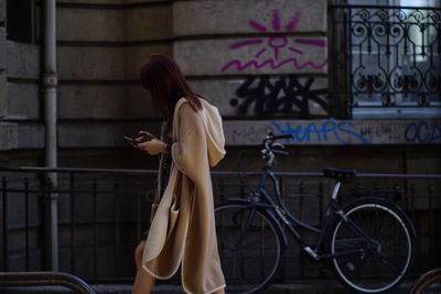
{"label": "pink graffiti sun with rays above a wavy line", "polygon": [[[287,31],[290,31],[290,32],[295,31],[295,28],[299,24],[300,18],[301,18],[301,12],[295,12],[294,15],[292,17],[292,19],[290,20],[290,22],[284,26],[287,29]],[[252,29],[255,29],[259,32],[268,31],[268,28],[266,28],[263,24],[261,24],[255,20],[249,20],[248,24]],[[279,32],[281,29],[280,14],[279,14],[278,10],[272,11],[271,26],[272,26],[272,30],[276,32]],[[297,48],[293,45],[290,45],[291,42],[294,44],[303,44],[303,45],[311,45],[311,46],[319,46],[319,47],[326,46],[325,40],[308,39],[308,37],[297,37],[297,39],[290,40],[288,36],[281,35],[280,33],[270,35],[267,39],[254,39],[254,40],[247,40],[247,41],[239,41],[239,42],[236,42],[236,43],[233,43],[232,45],[229,45],[229,48],[238,50],[244,46],[263,44],[263,45],[266,45],[266,47],[259,48],[258,53],[256,53],[254,56],[256,58],[259,58],[267,51],[272,51],[273,57],[268,58],[266,61],[251,59],[248,62],[234,59],[234,61],[228,62],[226,65],[224,65],[222,67],[220,72],[225,72],[228,68],[234,67],[234,66],[236,66],[238,72],[241,72],[249,66],[254,66],[255,68],[262,68],[268,65],[272,69],[280,68],[288,64],[292,64],[293,68],[295,68],[295,69],[302,69],[306,66],[311,66],[312,68],[320,69],[320,68],[323,68],[324,66],[326,66],[327,59],[325,59],[321,63],[314,63],[312,61],[306,61],[304,63],[300,63],[295,57],[289,57],[284,61],[278,61],[279,53],[282,50],[289,50],[299,55],[304,54],[304,52],[302,50]]]}

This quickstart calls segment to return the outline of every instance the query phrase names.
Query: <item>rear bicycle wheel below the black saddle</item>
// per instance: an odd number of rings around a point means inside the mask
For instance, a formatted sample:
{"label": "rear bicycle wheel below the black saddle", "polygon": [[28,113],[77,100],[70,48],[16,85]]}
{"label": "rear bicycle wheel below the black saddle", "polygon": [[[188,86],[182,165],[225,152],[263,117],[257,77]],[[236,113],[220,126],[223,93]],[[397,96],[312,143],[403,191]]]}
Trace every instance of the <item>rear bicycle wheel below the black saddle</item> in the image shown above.
{"label": "rear bicycle wheel below the black saddle", "polygon": [[354,251],[332,259],[337,277],[351,290],[381,293],[397,286],[413,255],[412,229],[401,209],[376,198],[343,209],[330,230],[330,252]]}

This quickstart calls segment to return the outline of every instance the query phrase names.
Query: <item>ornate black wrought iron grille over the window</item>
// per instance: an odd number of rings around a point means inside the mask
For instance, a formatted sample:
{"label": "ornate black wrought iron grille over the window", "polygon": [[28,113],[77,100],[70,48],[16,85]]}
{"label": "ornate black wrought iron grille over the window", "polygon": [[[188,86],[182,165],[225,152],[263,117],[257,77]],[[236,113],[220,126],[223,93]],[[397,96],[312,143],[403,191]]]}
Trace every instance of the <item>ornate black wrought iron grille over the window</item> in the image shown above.
{"label": "ornate black wrought iron grille over the window", "polygon": [[340,80],[351,108],[441,106],[441,8],[335,6],[331,11],[336,40],[331,54],[344,69]]}

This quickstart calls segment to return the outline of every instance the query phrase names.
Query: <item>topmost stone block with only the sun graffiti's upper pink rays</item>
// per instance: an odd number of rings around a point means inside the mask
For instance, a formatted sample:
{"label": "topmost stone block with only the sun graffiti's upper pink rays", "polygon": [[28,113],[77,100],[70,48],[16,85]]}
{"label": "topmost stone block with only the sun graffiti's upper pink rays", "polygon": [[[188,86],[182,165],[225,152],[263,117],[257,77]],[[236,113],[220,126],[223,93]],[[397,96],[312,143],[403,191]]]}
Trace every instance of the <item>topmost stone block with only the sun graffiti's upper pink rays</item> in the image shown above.
{"label": "topmost stone block with only the sun graffiti's upper pink rays", "polygon": [[207,0],[175,1],[175,35],[272,32],[325,33],[325,0]]}

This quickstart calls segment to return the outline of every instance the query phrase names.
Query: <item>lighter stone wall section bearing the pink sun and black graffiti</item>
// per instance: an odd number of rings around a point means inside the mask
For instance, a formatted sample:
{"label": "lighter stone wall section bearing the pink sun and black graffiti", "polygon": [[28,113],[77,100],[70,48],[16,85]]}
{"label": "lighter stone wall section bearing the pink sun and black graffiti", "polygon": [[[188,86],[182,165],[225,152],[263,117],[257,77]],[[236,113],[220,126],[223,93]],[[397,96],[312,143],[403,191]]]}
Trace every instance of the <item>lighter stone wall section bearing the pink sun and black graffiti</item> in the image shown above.
{"label": "lighter stone wall section bearing the pink sun and black graffiti", "polygon": [[224,116],[327,115],[326,1],[178,1],[173,13],[174,57]]}

